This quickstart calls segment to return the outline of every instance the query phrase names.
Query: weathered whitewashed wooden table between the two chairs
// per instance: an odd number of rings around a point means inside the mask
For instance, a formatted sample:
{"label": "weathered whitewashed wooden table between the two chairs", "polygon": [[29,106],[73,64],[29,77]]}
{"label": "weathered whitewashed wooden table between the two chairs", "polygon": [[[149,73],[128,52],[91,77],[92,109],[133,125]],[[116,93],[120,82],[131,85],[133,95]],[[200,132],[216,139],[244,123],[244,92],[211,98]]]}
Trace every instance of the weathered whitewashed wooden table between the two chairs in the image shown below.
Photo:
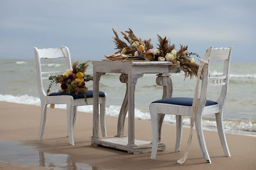
{"label": "weathered whitewashed wooden table between the two chairs", "polygon": [[[163,99],[172,97],[172,80],[170,73],[179,73],[180,67],[172,67],[172,62],[132,62],[132,61],[93,61],[93,96],[99,96],[100,76],[105,73],[121,73],[120,81],[126,83],[124,102],[118,117],[116,136],[99,138],[99,97],[93,97],[93,136],[92,145],[102,145],[129,153],[151,152],[150,141],[134,139],[134,90],[138,78],[143,74],[157,74],[157,85],[163,86]],[[110,96],[108,96],[110,97]],[[150,103],[148,103],[149,105]],[[128,137],[124,136],[124,122],[128,111]],[[163,117],[159,117],[159,132]],[[150,129],[150,128],[149,128]],[[159,133],[159,142],[161,133]],[[159,143],[158,150],[164,150],[165,145]]]}

